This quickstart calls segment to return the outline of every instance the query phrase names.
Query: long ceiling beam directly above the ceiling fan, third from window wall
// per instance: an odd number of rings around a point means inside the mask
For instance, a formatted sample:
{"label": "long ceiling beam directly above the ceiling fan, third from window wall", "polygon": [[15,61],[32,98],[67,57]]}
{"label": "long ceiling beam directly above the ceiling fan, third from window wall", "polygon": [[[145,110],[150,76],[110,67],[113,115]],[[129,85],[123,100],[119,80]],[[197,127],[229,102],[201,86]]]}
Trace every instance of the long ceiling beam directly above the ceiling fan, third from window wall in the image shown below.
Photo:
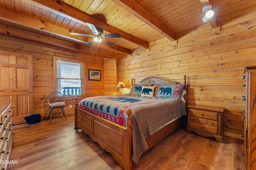
{"label": "long ceiling beam directly above the ceiling fan, third from window wall", "polygon": [[136,38],[126,32],[123,32],[122,30],[119,30],[105,22],[97,20],[96,18],[88,14],[85,14],[79,10],[76,10],[75,8],[72,8],[62,3],[59,0],[26,0],[26,1],[32,4],[36,4],[37,6],[40,6],[46,10],[49,10],[61,16],[64,16],[70,20],[74,20],[80,24],[86,25],[86,22],[88,22],[90,24],[94,24],[96,27],[102,28],[106,32],[109,32],[109,33],[118,32],[121,34],[123,39],[128,40],[134,44],[137,44],[138,46],[141,46],[143,48],[149,48],[148,42],[140,40],[139,38]]}

